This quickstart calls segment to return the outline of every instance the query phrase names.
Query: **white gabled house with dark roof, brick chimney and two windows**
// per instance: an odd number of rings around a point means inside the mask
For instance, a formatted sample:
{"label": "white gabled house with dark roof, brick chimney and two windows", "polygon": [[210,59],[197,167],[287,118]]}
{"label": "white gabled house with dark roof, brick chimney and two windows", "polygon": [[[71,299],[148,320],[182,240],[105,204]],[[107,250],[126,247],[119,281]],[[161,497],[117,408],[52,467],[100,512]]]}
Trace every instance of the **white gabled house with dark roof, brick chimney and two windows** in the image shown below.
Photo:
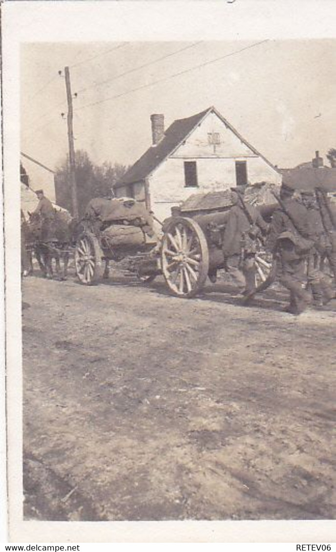
{"label": "white gabled house with dark roof, brick chimney and two windows", "polygon": [[164,129],[151,115],[153,145],[116,184],[116,195],[145,201],[163,220],[196,192],[237,184],[281,183],[281,173],[217,111],[209,107]]}

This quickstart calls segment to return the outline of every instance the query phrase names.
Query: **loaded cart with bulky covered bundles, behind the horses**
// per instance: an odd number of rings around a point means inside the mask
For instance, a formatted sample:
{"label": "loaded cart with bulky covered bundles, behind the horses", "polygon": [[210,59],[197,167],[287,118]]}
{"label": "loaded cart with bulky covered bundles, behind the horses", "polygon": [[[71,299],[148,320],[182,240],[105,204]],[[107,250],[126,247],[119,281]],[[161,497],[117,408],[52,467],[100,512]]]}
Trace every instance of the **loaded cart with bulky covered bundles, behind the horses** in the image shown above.
{"label": "loaded cart with bulky covered bundles, behind the horses", "polygon": [[85,285],[107,277],[108,263],[123,261],[141,282],[160,274],[158,240],[143,203],[130,198],[90,201],[75,245],[75,269]]}

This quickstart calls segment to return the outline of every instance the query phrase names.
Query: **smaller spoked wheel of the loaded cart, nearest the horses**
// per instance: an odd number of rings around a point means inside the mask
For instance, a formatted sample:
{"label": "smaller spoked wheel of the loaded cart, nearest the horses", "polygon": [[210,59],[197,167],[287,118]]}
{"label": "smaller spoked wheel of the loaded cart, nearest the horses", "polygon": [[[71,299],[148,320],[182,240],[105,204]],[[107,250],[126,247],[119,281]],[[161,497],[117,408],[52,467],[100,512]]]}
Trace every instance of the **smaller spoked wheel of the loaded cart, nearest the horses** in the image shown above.
{"label": "smaller spoked wheel of the loaded cart, nearest the horses", "polygon": [[92,285],[102,277],[102,250],[98,240],[90,232],[82,233],[75,247],[75,268],[82,284]]}

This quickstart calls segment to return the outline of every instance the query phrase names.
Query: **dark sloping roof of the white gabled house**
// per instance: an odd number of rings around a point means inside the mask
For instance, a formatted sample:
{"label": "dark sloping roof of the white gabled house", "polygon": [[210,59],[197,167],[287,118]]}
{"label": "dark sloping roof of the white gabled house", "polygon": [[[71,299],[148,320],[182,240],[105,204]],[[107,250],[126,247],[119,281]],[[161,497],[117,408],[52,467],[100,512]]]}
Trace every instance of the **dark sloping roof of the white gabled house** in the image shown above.
{"label": "dark sloping roof of the white gabled house", "polygon": [[251,146],[246,140],[233,128],[230,123],[224,119],[224,117],[217,111],[214,107],[209,107],[208,109],[192,115],[187,119],[177,119],[172,123],[169,128],[165,131],[164,137],[158,144],[151,146],[148,150],[141,156],[138,161],[134,163],[132,167],[124,174],[122,180],[116,184],[116,187],[122,186],[124,184],[132,184],[134,182],[143,181],[146,177],[149,176],[151,172],[154,171],[156,167],[159,166],[162,161],[166,159],[171,153],[176,150],[176,148],[187,139],[188,135],[192,132],[195,127],[202,122],[202,120],[208,115],[208,113],[214,112],[216,115],[223,121],[225,126],[234,132],[246,146],[250,148],[256,155],[266,161],[275,171],[278,169],[270,163],[259,151],[257,151],[253,146]]}

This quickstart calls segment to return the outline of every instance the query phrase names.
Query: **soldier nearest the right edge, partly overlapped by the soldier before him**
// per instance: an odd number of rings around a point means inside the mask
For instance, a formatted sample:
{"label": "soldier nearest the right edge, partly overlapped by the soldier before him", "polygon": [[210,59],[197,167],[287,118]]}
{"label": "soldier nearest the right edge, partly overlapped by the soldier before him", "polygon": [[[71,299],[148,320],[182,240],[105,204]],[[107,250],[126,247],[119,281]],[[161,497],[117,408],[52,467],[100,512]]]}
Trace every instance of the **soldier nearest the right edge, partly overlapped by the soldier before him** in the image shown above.
{"label": "soldier nearest the right edge, partly overlapped by the soldier before him", "polygon": [[301,192],[302,203],[307,209],[307,219],[309,230],[314,241],[314,247],[307,257],[307,279],[311,287],[313,299],[317,306],[327,304],[334,298],[335,293],[329,284],[326,275],[320,270],[321,254],[324,254],[327,248],[326,232],[324,231],[321,211],[316,203],[315,193],[313,191],[303,190]]}

